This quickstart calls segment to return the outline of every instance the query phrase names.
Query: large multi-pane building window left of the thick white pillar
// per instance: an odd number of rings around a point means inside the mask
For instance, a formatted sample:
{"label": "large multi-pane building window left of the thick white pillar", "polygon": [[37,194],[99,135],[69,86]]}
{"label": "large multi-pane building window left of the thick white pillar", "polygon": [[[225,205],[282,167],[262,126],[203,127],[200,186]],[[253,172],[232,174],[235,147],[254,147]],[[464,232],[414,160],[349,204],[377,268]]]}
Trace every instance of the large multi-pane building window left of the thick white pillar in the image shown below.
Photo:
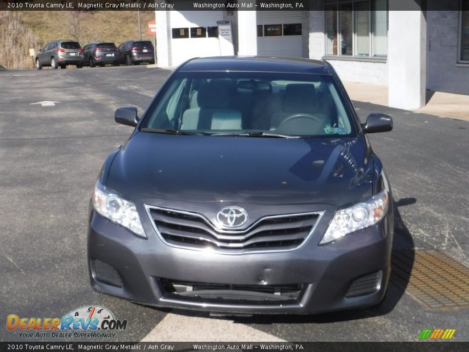
{"label": "large multi-pane building window left of the thick white pillar", "polygon": [[326,55],[387,56],[387,0],[325,0]]}

